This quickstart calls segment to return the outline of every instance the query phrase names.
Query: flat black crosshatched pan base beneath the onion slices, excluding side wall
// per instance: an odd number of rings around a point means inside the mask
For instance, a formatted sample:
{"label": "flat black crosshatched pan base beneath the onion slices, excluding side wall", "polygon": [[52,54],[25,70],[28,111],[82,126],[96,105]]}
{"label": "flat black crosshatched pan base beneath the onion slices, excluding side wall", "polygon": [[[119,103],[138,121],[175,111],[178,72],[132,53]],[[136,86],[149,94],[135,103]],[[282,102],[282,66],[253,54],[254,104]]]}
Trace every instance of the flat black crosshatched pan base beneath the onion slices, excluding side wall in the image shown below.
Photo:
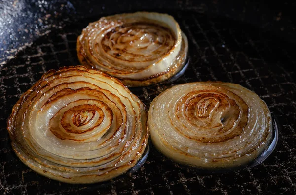
{"label": "flat black crosshatched pan base beneath the onion slices, excluding side wall", "polygon": [[0,69],[0,194],[295,194],[296,82],[295,47],[274,41],[268,33],[222,18],[193,12],[172,14],[189,40],[190,64],[169,84],[131,89],[149,108],[160,92],[194,81],[241,84],[256,92],[280,124],[280,140],[262,164],[222,174],[200,174],[165,158],[153,146],[143,167],[132,175],[95,185],[70,185],[33,172],[10,146],[6,119],[12,106],[49,69],[78,64],[76,38],[88,22],[69,22],[52,31]]}

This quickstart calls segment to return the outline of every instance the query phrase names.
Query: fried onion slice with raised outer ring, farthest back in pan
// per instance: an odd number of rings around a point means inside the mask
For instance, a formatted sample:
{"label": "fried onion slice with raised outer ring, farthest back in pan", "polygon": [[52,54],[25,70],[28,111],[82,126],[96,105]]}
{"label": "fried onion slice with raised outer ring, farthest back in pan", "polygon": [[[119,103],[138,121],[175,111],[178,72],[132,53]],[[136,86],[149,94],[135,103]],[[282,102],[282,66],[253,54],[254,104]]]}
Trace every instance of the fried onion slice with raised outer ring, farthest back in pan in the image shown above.
{"label": "fried onion slice with raised outer ring, farthest back in pan", "polygon": [[164,81],[185,65],[188,41],[172,16],[136,12],[102,17],[77,39],[80,63],[127,86]]}

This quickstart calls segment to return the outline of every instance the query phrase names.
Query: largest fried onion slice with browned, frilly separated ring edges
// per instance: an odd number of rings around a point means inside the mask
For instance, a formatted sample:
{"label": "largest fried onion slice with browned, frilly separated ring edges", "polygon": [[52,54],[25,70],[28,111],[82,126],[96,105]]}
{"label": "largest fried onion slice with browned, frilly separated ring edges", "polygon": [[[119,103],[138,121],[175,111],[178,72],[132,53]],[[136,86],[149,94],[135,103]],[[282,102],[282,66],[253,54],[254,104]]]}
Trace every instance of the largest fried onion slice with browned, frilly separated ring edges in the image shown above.
{"label": "largest fried onion slice with browned, frilly separated ring edges", "polygon": [[120,81],[83,66],[51,70],[14,105],[7,129],[30,168],[94,183],[133,167],[148,142],[144,104]]}

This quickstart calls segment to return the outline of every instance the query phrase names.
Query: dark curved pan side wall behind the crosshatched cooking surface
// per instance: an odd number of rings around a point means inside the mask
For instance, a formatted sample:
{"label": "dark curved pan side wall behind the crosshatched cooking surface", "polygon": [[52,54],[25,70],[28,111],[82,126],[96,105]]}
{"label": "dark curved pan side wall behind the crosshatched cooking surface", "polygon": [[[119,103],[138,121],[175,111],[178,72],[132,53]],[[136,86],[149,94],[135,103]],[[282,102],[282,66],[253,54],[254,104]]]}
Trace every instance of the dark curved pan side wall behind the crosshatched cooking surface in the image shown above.
{"label": "dark curved pan side wall behind the crosshatched cooking surface", "polygon": [[255,25],[296,43],[295,8],[296,1],[286,0],[0,0],[0,62],[15,52],[12,48],[30,43],[65,21],[141,10],[216,15]]}

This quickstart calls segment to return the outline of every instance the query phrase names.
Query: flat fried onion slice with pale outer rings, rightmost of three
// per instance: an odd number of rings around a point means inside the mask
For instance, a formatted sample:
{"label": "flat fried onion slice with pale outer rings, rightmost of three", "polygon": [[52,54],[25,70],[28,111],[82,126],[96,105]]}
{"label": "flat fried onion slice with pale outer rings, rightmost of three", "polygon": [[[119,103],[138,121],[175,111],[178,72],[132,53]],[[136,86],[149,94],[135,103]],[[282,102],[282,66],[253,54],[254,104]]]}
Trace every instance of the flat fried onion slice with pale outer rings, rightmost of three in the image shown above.
{"label": "flat fried onion slice with pale outer rings, rightmost of three", "polygon": [[272,138],[270,111],[238,84],[195,82],[157,96],[148,111],[153,144],[182,164],[199,168],[246,165]]}

